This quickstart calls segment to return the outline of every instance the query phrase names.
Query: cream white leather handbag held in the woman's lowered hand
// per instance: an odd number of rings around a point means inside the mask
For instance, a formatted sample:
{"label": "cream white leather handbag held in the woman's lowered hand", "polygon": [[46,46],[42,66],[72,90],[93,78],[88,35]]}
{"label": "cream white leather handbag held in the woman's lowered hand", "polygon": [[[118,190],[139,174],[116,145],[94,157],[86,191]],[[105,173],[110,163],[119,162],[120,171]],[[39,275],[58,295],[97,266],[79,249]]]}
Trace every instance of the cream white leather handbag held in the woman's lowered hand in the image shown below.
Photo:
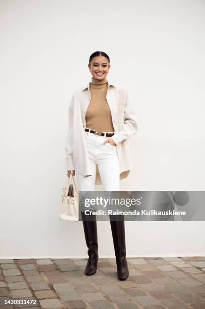
{"label": "cream white leather handbag held in the woman's lowered hand", "polygon": [[62,188],[59,219],[67,221],[79,221],[79,190],[75,176],[71,173],[67,186]]}

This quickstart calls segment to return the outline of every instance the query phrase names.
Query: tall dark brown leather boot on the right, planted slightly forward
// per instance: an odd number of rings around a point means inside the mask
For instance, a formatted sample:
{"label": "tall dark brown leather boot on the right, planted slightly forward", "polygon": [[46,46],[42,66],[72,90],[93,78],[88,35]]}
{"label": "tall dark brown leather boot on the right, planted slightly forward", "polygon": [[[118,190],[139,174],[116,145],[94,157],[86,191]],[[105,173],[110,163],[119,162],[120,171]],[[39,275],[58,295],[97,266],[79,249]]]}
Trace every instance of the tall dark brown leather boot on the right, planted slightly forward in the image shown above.
{"label": "tall dark brown leather boot on the right, planted slightly forward", "polygon": [[[112,218],[117,221],[111,221]],[[117,264],[117,276],[119,280],[125,280],[129,276],[129,271],[126,261],[124,216],[110,216],[110,225]]]}

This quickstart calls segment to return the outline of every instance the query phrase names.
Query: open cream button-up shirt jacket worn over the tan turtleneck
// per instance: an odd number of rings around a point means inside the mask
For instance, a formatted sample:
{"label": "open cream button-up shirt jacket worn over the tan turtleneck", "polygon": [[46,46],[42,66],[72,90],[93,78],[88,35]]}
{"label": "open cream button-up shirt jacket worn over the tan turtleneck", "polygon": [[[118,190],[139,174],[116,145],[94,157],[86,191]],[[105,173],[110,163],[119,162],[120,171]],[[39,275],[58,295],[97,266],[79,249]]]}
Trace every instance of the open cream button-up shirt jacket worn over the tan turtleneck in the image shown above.
{"label": "open cream button-up shirt jacket worn over the tan turtleneck", "polygon": [[[74,91],[69,106],[69,128],[64,145],[67,171],[77,170],[84,176],[92,175],[84,133],[86,128],[85,115],[90,99],[90,83],[86,87]],[[121,180],[128,176],[132,168],[127,139],[138,130],[136,112],[132,97],[122,85],[108,81],[106,99],[112,116],[114,135],[111,138],[116,144],[120,165],[119,179]],[[98,167],[95,184],[102,184]]]}

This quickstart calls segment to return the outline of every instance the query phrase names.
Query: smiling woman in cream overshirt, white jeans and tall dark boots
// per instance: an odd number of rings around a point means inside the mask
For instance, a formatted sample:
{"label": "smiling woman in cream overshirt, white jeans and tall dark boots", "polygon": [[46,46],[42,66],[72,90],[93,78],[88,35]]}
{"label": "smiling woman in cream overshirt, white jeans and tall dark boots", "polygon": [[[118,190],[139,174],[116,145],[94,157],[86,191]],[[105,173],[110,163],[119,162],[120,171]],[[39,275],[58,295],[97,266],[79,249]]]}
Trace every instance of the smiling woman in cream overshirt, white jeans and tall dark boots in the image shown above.
{"label": "smiling woman in cream overshirt, white jeans and tall dark boots", "polygon": [[[67,176],[77,177],[79,191],[94,191],[102,184],[106,191],[119,191],[119,181],[131,169],[127,139],[138,129],[132,98],[126,88],[107,80],[110,59],[104,52],[90,56],[92,81],[77,89],[69,108],[69,132],[65,141]],[[98,240],[96,217],[87,221],[82,213],[88,263],[86,275],[97,270]],[[114,221],[112,221],[114,220]],[[128,275],[124,218],[110,219],[117,275]]]}

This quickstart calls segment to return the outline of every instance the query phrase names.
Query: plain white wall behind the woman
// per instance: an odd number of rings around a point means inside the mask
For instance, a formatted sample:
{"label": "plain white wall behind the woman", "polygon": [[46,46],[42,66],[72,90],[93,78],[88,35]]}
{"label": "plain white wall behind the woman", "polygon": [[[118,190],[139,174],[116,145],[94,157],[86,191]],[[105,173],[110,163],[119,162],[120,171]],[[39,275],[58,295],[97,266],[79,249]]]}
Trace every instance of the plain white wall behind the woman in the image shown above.
{"label": "plain white wall behind the woman", "polygon": [[[68,107],[96,50],[138,112],[120,189],[205,189],[204,34],[200,0],[0,1],[0,258],[87,256],[82,222],[58,215]],[[205,255],[204,222],[125,224],[127,256]],[[108,227],[100,256],[114,256]]]}

